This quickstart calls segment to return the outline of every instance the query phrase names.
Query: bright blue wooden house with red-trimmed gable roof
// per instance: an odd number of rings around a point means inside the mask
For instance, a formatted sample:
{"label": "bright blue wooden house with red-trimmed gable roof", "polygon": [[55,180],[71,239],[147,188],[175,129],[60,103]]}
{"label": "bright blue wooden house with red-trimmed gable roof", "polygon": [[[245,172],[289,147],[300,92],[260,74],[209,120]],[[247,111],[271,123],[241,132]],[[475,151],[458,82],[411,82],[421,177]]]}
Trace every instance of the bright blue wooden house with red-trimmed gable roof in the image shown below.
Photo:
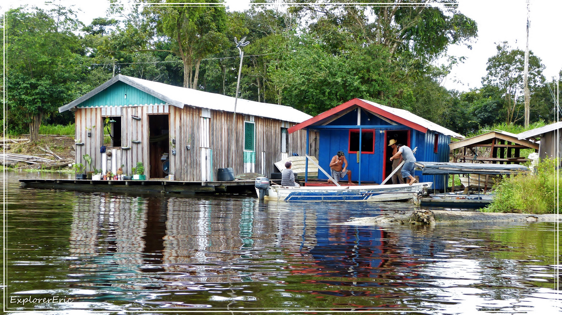
{"label": "bright blue wooden house with red-trimmed gable roof", "polygon": [[[461,134],[416,116],[407,110],[353,98],[342,105],[325,111],[289,128],[289,133],[306,129],[307,154],[318,158],[328,170],[330,159],[338,151],[346,154],[352,180],[380,183],[392,171],[391,139],[416,151],[418,161],[448,162],[451,137]],[[361,137],[359,137],[361,134]],[[433,176],[422,176],[421,182],[433,182]],[[319,172],[319,179],[327,179]],[[391,183],[390,181],[388,183]],[[443,189],[443,183],[435,183]]]}

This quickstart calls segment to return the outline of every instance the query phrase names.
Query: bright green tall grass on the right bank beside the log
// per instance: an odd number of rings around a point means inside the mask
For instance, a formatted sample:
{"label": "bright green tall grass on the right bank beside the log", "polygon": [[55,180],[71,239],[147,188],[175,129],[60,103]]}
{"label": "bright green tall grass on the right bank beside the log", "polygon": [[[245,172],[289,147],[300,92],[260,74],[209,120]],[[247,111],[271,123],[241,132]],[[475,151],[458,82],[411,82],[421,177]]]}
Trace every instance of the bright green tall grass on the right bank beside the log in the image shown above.
{"label": "bright green tall grass on the right bank beside the log", "polygon": [[493,203],[485,212],[522,212],[546,214],[556,212],[556,190],[562,194],[562,186],[556,185],[558,159],[540,161],[536,173],[511,176],[496,186]]}

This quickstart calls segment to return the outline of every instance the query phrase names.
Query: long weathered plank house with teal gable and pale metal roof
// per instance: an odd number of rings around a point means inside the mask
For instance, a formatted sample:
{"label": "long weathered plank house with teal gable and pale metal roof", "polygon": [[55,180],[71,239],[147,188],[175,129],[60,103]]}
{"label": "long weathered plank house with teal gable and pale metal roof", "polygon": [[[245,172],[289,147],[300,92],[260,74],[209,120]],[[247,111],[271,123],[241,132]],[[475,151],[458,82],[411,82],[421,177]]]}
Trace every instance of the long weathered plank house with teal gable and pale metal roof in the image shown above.
{"label": "long weathered plank house with teal gable and pale metal roof", "polygon": [[289,106],[238,99],[235,107],[234,97],[125,75],[58,110],[75,112],[76,163],[88,154],[92,167],[115,173],[124,165],[130,174],[142,162],[148,179],[165,178],[169,159],[167,172],[189,182],[216,181],[219,168],[276,172],[274,162],[305,153],[305,132],[287,131],[311,118]]}

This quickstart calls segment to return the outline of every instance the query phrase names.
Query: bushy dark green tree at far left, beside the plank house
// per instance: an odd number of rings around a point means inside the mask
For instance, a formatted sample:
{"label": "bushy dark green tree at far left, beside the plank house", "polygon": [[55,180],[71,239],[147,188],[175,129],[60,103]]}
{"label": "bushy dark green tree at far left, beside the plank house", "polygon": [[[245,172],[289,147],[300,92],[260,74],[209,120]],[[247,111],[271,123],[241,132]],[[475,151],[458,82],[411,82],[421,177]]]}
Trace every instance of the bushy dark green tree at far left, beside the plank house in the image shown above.
{"label": "bushy dark green tree at far left, beside the plank house", "polygon": [[2,20],[10,119],[29,125],[31,141],[38,140],[44,116],[76,97],[76,81],[87,72],[84,48],[74,34],[80,26],[74,12],[62,6],[50,11],[19,7]]}

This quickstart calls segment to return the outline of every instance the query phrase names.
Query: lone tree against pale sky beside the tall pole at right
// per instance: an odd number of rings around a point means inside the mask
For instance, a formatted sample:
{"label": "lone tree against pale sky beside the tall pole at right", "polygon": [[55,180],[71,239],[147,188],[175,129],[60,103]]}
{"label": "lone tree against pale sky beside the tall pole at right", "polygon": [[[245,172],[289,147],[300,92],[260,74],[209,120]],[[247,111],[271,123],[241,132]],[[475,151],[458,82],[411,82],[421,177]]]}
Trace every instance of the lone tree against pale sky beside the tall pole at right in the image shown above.
{"label": "lone tree against pale sky beside the tall pole at right", "polygon": [[[523,103],[518,98],[523,93],[525,52],[511,49],[507,42],[497,45],[496,49],[496,55],[488,58],[486,67],[488,74],[482,78],[482,84],[496,86],[504,95],[505,123],[509,125],[524,117],[521,115]],[[541,59],[529,51],[528,86],[531,89],[545,82],[545,77],[542,75],[544,68]]]}

